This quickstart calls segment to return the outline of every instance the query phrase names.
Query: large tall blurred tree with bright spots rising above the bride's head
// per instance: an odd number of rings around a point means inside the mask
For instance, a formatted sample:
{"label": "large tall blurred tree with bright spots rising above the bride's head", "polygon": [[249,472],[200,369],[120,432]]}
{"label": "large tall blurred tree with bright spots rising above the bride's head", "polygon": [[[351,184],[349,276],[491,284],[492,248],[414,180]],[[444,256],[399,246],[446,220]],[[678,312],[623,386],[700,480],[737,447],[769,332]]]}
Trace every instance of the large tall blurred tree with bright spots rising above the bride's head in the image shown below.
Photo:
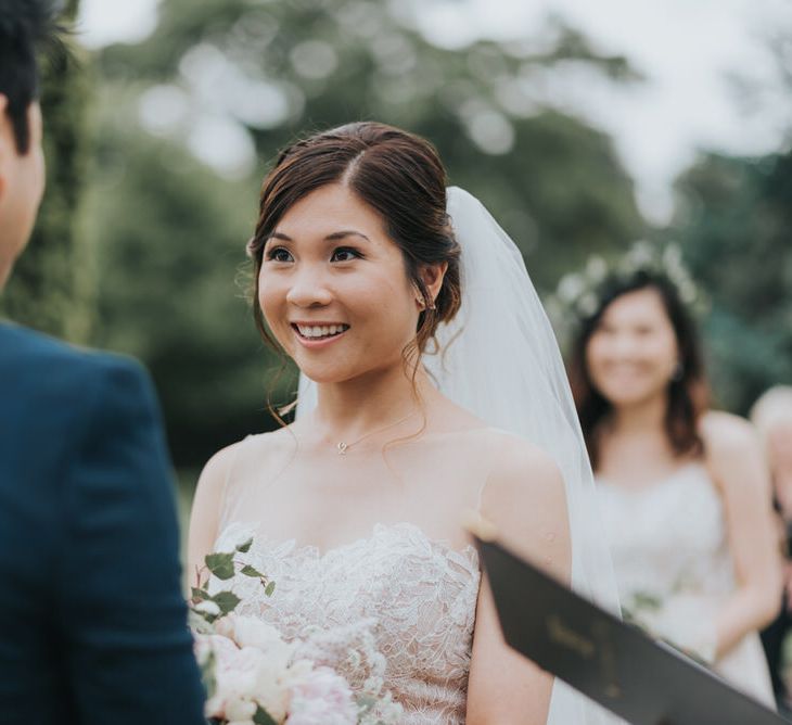
{"label": "large tall blurred tree with bright spots rising above the bride's head", "polygon": [[[559,265],[582,262],[591,247],[624,247],[643,231],[610,139],[532,101],[535,76],[557,64],[590,64],[615,81],[636,78],[623,58],[598,55],[558,23],[542,28],[554,43],[540,54],[490,41],[449,51],[394,8],[169,0],[157,30],[140,46],[107,49],[102,68],[115,80],[188,94],[204,92],[214,73],[204,107],[243,124],[264,158],[306,129],[359,118],[424,135],[451,182],[468,186],[504,220],[540,287],[554,284]],[[265,107],[256,94],[268,100]],[[189,124],[175,135],[189,133]]]}

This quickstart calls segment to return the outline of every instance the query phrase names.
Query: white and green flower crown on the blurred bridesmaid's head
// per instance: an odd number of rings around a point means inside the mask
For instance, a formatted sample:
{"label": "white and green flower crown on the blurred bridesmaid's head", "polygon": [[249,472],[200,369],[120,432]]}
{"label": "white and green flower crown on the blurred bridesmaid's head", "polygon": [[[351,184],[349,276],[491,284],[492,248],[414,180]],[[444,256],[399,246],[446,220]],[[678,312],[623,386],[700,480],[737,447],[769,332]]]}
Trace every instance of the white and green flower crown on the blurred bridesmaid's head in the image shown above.
{"label": "white and green flower crown on the blurred bridesmaid's head", "polygon": [[604,293],[611,287],[606,282],[627,282],[640,272],[664,278],[679,300],[693,311],[701,311],[706,306],[703,292],[682,262],[679,245],[640,240],[610,264],[604,257],[592,255],[580,271],[564,275],[555,292],[547,300],[550,318],[569,329],[592,317],[601,309]]}

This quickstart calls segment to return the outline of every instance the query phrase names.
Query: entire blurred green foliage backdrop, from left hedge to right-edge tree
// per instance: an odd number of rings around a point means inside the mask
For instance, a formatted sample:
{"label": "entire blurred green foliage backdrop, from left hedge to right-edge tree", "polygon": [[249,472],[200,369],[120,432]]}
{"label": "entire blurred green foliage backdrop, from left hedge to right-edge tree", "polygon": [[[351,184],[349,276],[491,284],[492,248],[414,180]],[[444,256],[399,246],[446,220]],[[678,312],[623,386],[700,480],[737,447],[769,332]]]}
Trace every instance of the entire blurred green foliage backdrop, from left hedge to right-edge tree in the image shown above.
{"label": "entire blurred green foliage backdrop, from left hedge to right-edge tree", "polygon": [[[76,7],[72,0],[72,14]],[[271,428],[268,397],[285,402],[294,390],[293,373],[276,374],[281,361],[258,340],[245,298],[244,246],[270,160],[306,131],[375,118],[437,145],[450,182],[503,224],[541,291],[593,252],[612,256],[646,234],[680,240],[715,302],[707,343],[721,402],[744,410],[764,386],[792,379],[789,154],[703,154],[679,181],[672,227],[650,229],[611,139],[531,93],[569,64],[640,82],[627,60],[598,53],[558,21],[520,43],[437,48],[410,7],[163,0],[143,42],[53,68],[44,91],[49,190],[5,314],[142,358],[176,462],[199,467],[220,446]],[[232,75],[204,73],[195,63],[207,58]],[[205,75],[197,81],[196,67]],[[229,77],[244,81],[235,94]],[[258,91],[246,93],[245,84],[268,93],[269,115],[246,111]],[[188,99],[180,124],[157,135],[140,113],[152,89]],[[229,180],[196,160],[186,143],[195,114],[250,135],[250,174]],[[511,142],[483,142],[482,127]]]}

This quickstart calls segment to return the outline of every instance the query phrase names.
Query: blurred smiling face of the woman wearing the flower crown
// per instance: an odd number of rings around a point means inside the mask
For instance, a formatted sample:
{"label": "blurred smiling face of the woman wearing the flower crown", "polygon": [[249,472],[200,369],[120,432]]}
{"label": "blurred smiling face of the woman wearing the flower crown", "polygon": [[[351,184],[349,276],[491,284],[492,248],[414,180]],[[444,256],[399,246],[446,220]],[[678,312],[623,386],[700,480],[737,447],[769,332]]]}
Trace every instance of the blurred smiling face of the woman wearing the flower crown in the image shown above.
{"label": "blurred smiling face of the woman wearing the flower crown", "polygon": [[665,395],[677,360],[674,327],[651,288],[616,297],[586,347],[591,382],[615,407]]}

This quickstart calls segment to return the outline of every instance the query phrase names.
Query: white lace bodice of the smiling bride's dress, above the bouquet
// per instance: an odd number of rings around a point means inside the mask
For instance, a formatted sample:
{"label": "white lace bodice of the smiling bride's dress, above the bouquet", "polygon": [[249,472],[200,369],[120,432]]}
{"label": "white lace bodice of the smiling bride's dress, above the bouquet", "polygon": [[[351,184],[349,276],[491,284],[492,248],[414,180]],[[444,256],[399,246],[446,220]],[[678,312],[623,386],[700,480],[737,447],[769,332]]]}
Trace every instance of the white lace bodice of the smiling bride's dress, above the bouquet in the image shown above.
{"label": "white lace bodice of the smiling bride's dress, above the bouquet", "polygon": [[472,546],[461,551],[410,523],[375,524],[371,536],[329,549],[270,542],[254,524],[231,523],[215,550],[255,537],[245,561],[276,582],[267,597],[238,577],[238,611],[276,625],[304,656],[329,664],[360,688],[375,675],[360,664],[366,637],[384,657],[384,686],[404,723],[463,723],[481,580]]}

